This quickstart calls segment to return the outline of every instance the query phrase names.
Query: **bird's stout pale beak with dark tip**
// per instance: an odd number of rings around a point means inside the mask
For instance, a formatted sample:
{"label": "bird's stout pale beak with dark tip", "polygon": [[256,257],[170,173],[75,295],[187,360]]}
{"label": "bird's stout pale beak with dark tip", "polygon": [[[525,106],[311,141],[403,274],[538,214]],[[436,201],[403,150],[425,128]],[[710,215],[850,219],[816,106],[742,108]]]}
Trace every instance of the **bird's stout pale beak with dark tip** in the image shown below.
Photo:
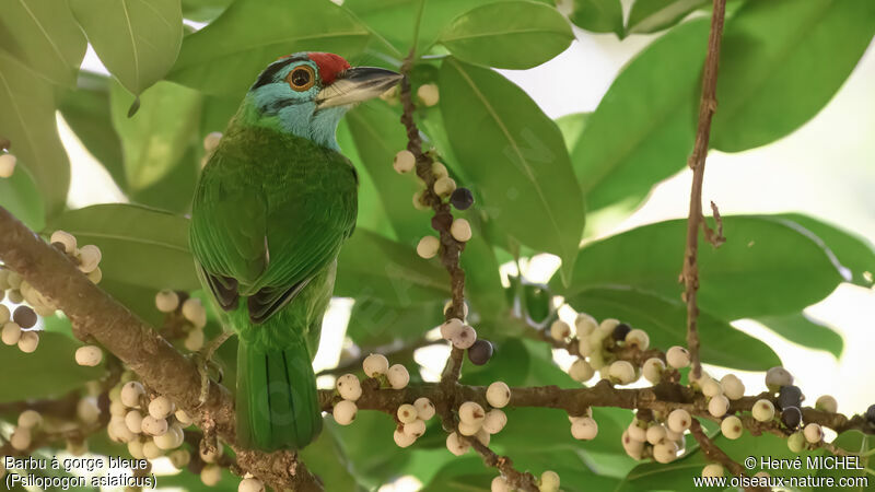
{"label": "bird's stout pale beak with dark tip", "polygon": [[376,97],[397,84],[400,73],[375,67],[355,67],[341,72],[337,80],[316,94],[316,107],[347,106]]}

